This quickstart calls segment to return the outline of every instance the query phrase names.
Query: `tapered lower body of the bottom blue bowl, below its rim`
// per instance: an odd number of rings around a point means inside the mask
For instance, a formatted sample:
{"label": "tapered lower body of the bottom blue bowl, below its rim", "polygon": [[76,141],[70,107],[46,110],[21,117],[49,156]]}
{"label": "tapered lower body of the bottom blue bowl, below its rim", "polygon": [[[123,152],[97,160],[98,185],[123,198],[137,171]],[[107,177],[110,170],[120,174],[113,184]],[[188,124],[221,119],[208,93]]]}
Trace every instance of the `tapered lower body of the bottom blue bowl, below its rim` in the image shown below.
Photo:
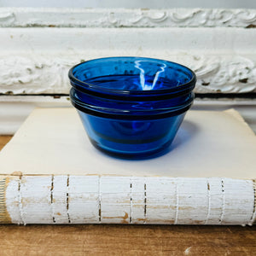
{"label": "tapered lower body of the bottom blue bowl, below its rim", "polygon": [[123,159],[148,159],[165,154],[185,113],[166,119],[106,119],[79,111],[90,142],[101,151]]}

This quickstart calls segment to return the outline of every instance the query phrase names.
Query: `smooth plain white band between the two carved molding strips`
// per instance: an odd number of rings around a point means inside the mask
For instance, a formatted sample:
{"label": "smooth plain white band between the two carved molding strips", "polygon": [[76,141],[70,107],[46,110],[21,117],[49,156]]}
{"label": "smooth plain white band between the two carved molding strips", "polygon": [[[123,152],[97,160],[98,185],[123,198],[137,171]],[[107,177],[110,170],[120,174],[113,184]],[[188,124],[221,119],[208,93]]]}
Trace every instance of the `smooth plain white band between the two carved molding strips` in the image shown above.
{"label": "smooth plain white band between the two carved molding strips", "polygon": [[[244,29],[241,27],[159,27],[157,29],[148,27],[125,27],[125,28],[99,28],[88,27],[20,27],[9,29],[1,28],[1,47],[5,51],[1,55],[19,54],[21,57],[31,56],[30,54],[44,54],[45,56],[56,55],[65,52],[65,56],[79,54],[76,56],[84,59],[83,54],[113,55],[125,50],[123,55],[140,52],[148,53],[150,50],[157,50],[157,53],[179,53],[180,55],[214,55],[217,52],[223,55],[245,54],[255,55],[254,39],[256,32],[254,29]],[[54,37],[55,35],[55,37]],[[246,44],[245,41],[246,40]],[[245,45],[247,47],[245,47]],[[140,49],[142,48],[142,49]],[[109,53],[108,53],[109,51]],[[189,51],[189,52],[187,52]],[[44,57],[42,55],[42,57]],[[156,55],[156,53],[154,53]],[[55,61],[60,61],[63,56]],[[73,56],[74,58],[74,56]],[[37,58],[34,59],[37,61]],[[40,64],[38,60],[38,64]],[[45,60],[46,61],[46,60]],[[67,59],[68,61],[68,59]],[[196,61],[196,60],[195,60]],[[44,68],[40,65],[38,69]]]}

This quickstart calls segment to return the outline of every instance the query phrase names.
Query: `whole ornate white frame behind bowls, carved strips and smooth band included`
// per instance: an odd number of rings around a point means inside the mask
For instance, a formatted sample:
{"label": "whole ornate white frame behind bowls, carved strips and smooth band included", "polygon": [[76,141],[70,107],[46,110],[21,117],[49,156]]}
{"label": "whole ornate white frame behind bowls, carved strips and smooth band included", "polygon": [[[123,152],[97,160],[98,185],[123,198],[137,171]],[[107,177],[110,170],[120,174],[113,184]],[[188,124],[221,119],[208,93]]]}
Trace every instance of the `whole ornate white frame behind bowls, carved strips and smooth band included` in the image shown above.
{"label": "whole ornate white frame behind bowls, carved strips and smooth band included", "polygon": [[67,94],[74,64],[131,54],[192,68],[198,93],[256,92],[254,27],[256,9],[0,8],[0,93]]}

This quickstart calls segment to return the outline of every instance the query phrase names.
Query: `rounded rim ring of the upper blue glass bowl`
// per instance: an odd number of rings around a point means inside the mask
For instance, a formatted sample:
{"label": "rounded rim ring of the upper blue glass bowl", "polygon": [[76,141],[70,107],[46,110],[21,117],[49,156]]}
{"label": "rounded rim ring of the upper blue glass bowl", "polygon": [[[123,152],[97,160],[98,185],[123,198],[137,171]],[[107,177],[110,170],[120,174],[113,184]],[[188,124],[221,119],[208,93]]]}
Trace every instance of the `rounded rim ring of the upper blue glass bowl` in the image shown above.
{"label": "rounded rim ring of the upper blue glass bowl", "polygon": [[[83,65],[84,63],[88,63],[88,62],[92,62],[92,61],[101,61],[101,60],[113,60],[113,59],[142,59],[142,60],[148,60],[148,61],[164,61],[167,62],[169,64],[174,64],[177,65],[179,67],[183,67],[185,69],[188,70],[189,73],[192,74],[192,78],[189,80],[189,82],[185,83],[185,84],[181,84],[178,85],[177,87],[173,87],[170,89],[158,89],[158,90],[115,90],[115,89],[108,89],[108,88],[102,88],[99,85],[96,84],[88,84],[85,83],[79,79],[77,79],[74,75],[73,75],[73,69]],[[139,56],[114,56],[114,57],[106,57],[106,58],[97,58],[97,59],[92,59],[89,61],[84,61],[81,62],[75,66],[73,66],[72,68],[70,68],[69,72],[68,72],[68,78],[71,81],[71,85],[73,87],[79,87],[79,90],[84,91],[89,93],[89,91],[95,91],[96,93],[105,95],[106,97],[108,97],[109,95],[114,95],[114,96],[159,96],[160,95],[164,95],[164,94],[173,94],[176,95],[177,93],[180,93],[182,90],[193,90],[195,88],[195,83],[196,83],[196,76],[195,73],[189,68],[189,67],[185,67],[182,64],[179,64],[177,62],[173,62],[173,61],[166,61],[166,60],[160,60],[160,59],[155,59],[155,58],[148,58],[148,57],[139,57]],[[84,86],[86,85],[86,86]],[[81,87],[83,86],[83,87]],[[77,88],[78,89],[78,88]],[[107,95],[106,95],[107,94]]]}

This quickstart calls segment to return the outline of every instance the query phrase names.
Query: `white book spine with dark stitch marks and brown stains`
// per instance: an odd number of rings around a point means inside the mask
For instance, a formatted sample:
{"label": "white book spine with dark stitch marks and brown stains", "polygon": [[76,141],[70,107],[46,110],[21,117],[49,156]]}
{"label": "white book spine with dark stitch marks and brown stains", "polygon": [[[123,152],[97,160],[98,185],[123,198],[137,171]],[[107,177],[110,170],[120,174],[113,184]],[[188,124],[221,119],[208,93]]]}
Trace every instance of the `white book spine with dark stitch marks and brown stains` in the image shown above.
{"label": "white book spine with dark stitch marks and brown stains", "polygon": [[3,223],[244,225],[255,221],[252,180],[96,175],[2,180],[6,193],[1,202],[6,202],[9,216]]}

